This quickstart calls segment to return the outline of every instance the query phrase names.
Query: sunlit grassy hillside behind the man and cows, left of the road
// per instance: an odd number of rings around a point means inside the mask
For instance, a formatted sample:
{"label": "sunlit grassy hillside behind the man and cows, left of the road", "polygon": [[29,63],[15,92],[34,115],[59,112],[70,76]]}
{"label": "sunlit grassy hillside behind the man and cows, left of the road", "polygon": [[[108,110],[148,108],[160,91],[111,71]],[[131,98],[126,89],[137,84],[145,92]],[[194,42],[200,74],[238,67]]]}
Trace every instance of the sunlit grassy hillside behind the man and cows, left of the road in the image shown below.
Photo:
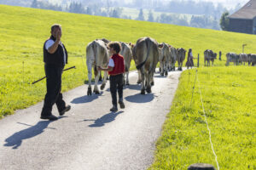
{"label": "sunlit grassy hillside behind the man and cows, left of the road", "polygon": [[[247,43],[247,53],[256,52],[255,36],[225,31],[6,5],[0,5],[0,20],[0,117],[44,99],[45,81],[35,85],[30,82],[44,77],[43,43],[54,23],[62,25],[61,40],[70,57],[67,67],[78,68],[64,73],[64,91],[87,80],[85,47],[96,38],[136,42],[139,37],[154,37],[176,48],[193,48],[194,55],[199,53],[201,57],[207,48],[240,53],[242,43]],[[216,65],[224,65],[224,61]]]}

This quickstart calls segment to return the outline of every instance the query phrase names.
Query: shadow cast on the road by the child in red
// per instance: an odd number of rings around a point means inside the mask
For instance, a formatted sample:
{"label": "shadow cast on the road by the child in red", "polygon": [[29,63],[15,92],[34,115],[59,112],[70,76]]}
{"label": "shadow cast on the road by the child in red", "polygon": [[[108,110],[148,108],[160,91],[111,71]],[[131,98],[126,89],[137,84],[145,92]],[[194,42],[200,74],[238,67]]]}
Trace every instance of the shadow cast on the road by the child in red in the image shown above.
{"label": "shadow cast on the road by the child in red", "polygon": [[103,127],[105,123],[113,122],[115,120],[115,117],[119,114],[123,113],[124,111],[118,111],[118,112],[110,112],[107,115],[104,115],[96,120],[88,120],[84,119],[84,121],[94,121],[93,124],[90,124],[89,127]]}

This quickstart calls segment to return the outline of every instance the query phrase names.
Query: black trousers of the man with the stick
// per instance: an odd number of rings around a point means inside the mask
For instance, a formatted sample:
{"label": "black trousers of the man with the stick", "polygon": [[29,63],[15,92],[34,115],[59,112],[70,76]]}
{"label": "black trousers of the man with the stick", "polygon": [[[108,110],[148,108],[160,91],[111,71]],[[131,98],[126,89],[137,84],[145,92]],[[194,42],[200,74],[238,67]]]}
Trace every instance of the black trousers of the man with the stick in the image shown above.
{"label": "black trousers of the man with the stick", "polygon": [[44,107],[41,116],[51,115],[52,106],[57,105],[58,111],[61,112],[65,108],[65,101],[61,94],[61,75],[63,66],[44,65],[46,75],[47,93],[44,97]]}

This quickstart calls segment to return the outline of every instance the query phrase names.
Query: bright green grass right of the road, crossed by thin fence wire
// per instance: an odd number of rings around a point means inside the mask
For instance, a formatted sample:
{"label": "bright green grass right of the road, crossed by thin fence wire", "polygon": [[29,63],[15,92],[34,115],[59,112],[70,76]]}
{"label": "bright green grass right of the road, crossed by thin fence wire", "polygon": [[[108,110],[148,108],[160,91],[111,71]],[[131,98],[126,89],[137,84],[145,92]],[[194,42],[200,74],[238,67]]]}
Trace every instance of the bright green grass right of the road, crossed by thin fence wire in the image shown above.
{"label": "bright green grass right of the road, crossed by thin fence wire", "polygon": [[[198,70],[207,122],[220,169],[256,169],[256,68]],[[184,71],[149,169],[187,169],[193,163],[217,167],[209,142],[195,69]]]}

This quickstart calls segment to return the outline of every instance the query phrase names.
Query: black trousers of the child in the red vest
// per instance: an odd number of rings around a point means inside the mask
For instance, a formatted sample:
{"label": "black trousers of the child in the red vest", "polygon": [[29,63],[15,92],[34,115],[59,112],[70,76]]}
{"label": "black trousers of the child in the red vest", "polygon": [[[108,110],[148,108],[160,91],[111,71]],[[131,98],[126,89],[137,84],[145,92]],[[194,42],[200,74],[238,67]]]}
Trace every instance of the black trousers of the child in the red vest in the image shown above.
{"label": "black trousers of the child in the red vest", "polygon": [[117,106],[117,91],[119,94],[119,101],[123,101],[123,83],[124,83],[124,76],[123,74],[119,74],[116,76],[110,76],[110,92],[112,97],[112,104]]}

